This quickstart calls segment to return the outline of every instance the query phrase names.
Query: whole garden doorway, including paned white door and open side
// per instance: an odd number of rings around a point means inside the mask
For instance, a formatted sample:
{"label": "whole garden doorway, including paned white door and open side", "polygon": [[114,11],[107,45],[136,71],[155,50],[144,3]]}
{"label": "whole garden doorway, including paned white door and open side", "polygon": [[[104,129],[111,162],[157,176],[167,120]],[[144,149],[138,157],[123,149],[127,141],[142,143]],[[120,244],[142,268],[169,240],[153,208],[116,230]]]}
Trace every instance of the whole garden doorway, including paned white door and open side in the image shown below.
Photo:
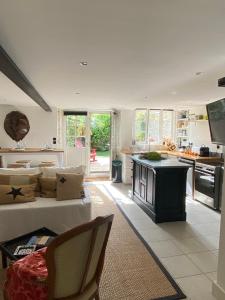
{"label": "whole garden doorway, including paned white door and open side", "polygon": [[87,176],[109,176],[111,124],[111,112],[64,112],[66,165],[85,166]]}

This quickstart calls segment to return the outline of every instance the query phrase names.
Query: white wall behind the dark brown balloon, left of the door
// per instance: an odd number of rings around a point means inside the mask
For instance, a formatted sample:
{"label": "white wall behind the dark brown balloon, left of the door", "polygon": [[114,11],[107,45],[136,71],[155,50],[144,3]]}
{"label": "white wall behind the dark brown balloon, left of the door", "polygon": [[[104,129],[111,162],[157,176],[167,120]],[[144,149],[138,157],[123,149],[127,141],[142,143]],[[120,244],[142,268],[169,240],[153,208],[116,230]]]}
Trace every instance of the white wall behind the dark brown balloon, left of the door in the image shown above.
{"label": "white wall behind the dark brown balloon, left of the door", "polygon": [[[5,117],[7,113],[13,110],[24,113],[30,122],[30,131],[22,141],[25,147],[40,148],[46,143],[52,143],[52,138],[57,137],[56,108],[52,108],[52,112],[45,112],[39,107],[0,105],[0,147],[16,147],[16,142],[13,141],[4,130]],[[19,158],[21,157],[22,156]],[[14,161],[15,159],[18,159],[18,157],[15,156],[12,158]],[[42,160],[43,159],[46,158],[42,157]]]}

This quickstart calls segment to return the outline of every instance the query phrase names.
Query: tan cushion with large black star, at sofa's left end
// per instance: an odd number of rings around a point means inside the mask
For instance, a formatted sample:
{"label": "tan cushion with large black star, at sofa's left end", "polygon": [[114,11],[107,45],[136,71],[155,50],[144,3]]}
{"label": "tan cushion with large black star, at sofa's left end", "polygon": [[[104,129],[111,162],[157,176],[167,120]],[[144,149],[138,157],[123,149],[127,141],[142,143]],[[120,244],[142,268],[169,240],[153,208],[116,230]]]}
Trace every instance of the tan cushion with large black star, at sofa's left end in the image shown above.
{"label": "tan cushion with large black star, at sofa's left end", "polygon": [[0,204],[13,204],[35,201],[35,184],[0,185]]}

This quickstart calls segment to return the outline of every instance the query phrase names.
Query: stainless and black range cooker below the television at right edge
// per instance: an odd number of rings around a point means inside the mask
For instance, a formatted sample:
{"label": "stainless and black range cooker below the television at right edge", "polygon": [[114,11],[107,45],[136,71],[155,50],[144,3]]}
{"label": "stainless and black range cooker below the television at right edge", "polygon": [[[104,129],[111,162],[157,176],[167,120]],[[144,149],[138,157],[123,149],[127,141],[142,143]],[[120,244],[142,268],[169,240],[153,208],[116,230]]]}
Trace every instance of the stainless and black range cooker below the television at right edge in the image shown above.
{"label": "stainless and black range cooker below the television at right edge", "polygon": [[196,162],[195,200],[221,210],[223,172],[222,162]]}

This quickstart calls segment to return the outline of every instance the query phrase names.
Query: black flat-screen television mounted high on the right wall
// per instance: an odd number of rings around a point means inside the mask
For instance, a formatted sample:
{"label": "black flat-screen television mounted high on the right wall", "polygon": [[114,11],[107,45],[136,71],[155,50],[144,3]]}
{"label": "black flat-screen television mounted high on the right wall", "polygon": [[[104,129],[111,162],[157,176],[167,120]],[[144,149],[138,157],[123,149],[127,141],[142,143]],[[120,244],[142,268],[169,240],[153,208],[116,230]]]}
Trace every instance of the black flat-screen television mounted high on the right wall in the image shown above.
{"label": "black flat-screen television mounted high on the right wall", "polygon": [[225,98],[206,105],[211,141],[225,145]]}

